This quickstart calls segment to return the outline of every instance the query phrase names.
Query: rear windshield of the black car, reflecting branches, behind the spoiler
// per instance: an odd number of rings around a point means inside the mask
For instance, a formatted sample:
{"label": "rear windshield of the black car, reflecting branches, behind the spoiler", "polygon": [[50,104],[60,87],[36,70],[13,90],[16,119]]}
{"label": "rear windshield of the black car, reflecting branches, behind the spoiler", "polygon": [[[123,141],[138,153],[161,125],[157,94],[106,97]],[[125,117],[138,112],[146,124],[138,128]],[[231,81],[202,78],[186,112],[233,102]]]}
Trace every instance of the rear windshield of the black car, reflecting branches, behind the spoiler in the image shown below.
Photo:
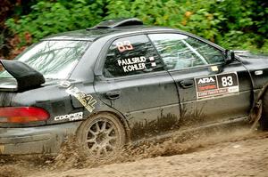
{"label": "rear windshield of the black car, reflecting branches, behind the spoiler", "polygon": [[[15,60],[27,63],[45,78],[67,78],[88,44],[88,41],[42,41],[22,52]],[[12,76],[4,70],[0,77]]]}

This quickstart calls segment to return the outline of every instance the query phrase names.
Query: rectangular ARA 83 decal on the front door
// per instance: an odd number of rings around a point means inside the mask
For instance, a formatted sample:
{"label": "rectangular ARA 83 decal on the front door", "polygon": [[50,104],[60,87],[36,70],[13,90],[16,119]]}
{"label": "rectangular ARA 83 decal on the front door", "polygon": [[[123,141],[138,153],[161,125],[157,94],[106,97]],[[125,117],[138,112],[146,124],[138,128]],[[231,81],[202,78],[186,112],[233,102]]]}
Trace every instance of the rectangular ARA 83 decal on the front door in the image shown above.
{"label": "rectangular ARA 83 decal on the front door", "polygon": [[197,99],[239,93],[237,73],[197,77],[195,82],[197,86]]}

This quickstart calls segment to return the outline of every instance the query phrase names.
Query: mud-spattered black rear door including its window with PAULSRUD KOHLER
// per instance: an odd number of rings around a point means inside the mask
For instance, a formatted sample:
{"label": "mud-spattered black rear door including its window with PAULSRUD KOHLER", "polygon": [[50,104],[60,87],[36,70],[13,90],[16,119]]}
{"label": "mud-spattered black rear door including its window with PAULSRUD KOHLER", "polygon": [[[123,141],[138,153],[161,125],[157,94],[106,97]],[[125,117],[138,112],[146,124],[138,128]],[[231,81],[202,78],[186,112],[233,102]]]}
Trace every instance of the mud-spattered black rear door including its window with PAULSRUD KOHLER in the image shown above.
{"label": "mud-spattered black rear door including its window with PAULSRUD KOHLER", "polygon": [[106,105],[128,119],[131,139],[178,128],[176,85],[147,36],[124,36],[108,45],[95,89]]}

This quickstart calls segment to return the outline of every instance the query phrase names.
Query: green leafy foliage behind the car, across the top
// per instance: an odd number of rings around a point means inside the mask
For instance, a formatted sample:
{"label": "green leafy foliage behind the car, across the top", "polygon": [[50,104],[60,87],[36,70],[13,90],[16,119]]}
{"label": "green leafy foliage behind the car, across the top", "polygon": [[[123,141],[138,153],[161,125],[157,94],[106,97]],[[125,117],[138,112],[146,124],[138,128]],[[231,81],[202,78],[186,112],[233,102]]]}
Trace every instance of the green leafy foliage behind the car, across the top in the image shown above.
{"label": "green leafy foliage behind the car, across the top", "polygon": [[104,19],[138,17],[147,25],[180,28],[227,48],[268,52],[268,3],[263,0],[37,2],[30,6],[29,14],[5,23],[21,36],[22,44],[27,33],[36,41],[54,33],[88,28]]}

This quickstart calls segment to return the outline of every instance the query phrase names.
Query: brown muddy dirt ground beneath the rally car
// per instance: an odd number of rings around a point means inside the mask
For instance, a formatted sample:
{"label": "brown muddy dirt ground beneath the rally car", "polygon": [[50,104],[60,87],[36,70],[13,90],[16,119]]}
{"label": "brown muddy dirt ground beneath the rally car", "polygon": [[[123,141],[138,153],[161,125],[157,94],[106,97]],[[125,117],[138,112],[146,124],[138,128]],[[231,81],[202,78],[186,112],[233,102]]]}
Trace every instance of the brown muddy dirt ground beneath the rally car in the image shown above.
{"label": "brown muddy dirt ground beneath the rally car", "polygon": [[70,146],[55,158],[0,157],[0,176],[268,176],[268,133],[243,128],[186,137],[132,145],[110,161],[80,157]]}

